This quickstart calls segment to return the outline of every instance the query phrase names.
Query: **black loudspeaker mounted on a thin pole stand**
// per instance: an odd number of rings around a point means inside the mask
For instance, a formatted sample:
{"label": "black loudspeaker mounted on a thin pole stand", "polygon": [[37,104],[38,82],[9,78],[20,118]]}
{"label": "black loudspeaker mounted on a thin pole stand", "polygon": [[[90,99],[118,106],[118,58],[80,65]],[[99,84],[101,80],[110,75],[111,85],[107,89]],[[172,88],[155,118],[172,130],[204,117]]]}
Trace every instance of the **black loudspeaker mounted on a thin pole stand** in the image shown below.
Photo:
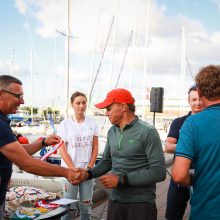
{"label": "black loudspeaker mounted on a thin pole stand", "polygon": [[150,91],[150,111],[163,112],[163,94],[162,87],[152,87]]}

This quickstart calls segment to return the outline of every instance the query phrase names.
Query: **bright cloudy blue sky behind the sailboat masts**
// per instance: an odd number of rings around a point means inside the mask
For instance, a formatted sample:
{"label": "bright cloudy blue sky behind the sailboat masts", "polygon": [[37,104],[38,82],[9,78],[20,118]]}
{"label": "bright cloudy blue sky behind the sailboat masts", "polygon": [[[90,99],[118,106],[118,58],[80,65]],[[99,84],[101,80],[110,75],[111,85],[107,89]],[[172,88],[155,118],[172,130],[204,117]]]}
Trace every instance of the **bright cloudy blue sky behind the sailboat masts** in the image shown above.
{"label": "bright cloudy blue sky behind the sailboat masts", "polygon": [[[67,0],[0,1],[0,73],[23,82],[25,105],[64,108]],[[220,0],[69,0],[69,94],[115,87],[178,99],[220,60]],[[63,34],[61,34],[61,33]]]}

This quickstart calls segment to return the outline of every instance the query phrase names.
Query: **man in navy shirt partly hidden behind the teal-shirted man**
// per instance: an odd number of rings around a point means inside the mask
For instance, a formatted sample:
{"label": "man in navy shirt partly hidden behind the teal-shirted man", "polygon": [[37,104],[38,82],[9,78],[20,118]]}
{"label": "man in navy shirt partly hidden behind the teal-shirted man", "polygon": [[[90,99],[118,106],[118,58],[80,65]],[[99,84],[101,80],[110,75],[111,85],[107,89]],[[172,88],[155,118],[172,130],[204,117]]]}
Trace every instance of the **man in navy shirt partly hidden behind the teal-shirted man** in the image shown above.
{"label": "man in navy shirt partly hidden behind the teal-shirted man", "polygon": [[[188,102],[191,111],[182,117],[174,119],[170,126],[170,130],[167,136],[165,151],[167,153],[174,154],[176,150],[176,144],[179,139],[179,132],[184,121],[193,114],[196,114],[203,109],[203,104],[199,98],[196,85],[193,85],[188,90]],[[168,220],[182,220],[187,203],[190,198],[190,188],[179,186],[172,179],[167,193],[167,207],[165,217]]]}

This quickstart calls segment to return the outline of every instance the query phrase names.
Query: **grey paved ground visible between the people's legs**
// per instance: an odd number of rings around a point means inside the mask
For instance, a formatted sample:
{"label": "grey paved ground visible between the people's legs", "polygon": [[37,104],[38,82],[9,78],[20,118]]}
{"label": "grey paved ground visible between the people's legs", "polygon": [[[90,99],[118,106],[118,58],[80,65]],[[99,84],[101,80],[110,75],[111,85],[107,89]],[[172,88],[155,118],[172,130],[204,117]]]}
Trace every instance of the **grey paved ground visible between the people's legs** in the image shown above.
{"label": "grey paved ground visible between the people's legs", "polygon": [[[172,157],[170,155],[166,155],[166,163],[167,165],[170,164],[172,161]],[[168,171],[170,172],[170,168],[168,168]],[[169,186],[170,176],[167,174],[166,180],[157,184],[157,198],[156,198],[156,204],[157,204],[157,211],[158,211],[158,220],[165,220],[165,209],[166,209],[166,196],[167,196],[167,190]],[[106,220],[106,214],[107,214],[107,207],[108,207],[108,201],[103,203],[102,205],[94,208],[92,210],[92,220],[99,219],[99,220]],[[190,208],[187,207],[185,216],[183,220],[187,220],[189,217],[189,210]],[[79,220],[80,218],[76,218]],[[116,219],[117,220],[117,219]]]}

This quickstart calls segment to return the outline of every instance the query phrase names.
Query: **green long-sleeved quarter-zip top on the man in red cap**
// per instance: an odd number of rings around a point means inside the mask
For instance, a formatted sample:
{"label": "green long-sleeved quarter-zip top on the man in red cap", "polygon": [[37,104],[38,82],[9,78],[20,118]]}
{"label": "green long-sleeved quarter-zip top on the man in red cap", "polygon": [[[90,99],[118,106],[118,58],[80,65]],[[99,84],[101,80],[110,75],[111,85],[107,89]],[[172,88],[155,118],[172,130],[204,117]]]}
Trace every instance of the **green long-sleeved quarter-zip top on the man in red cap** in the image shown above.
{"label": "green long-sleeved quarter-zip top on the man in red cap", "polygon": [[93,177],[106,172],[124,176],[128,185],[111,191],[111,200],[155,204],[156,183],[166,177],[165,158],[157,130],[136,117],[122,130],[112,126],[102,160],[92,169]]}

